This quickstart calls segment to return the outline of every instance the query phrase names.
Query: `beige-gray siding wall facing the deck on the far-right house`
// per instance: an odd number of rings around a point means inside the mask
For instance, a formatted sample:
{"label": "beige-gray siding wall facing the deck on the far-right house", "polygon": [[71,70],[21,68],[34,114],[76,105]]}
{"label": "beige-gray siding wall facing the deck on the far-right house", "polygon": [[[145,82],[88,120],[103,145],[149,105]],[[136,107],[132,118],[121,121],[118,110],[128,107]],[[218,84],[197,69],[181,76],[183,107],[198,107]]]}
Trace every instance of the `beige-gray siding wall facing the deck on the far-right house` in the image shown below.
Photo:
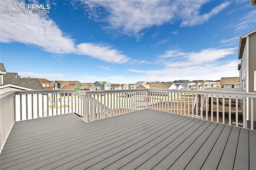
{"label": "beige-gray siding wall facing the deck on the far-right house", "polygon": [[[249,59],[249,91],[248,92],[256,92],[254,91],[254,71],[256,71],[256,32],[251,34],[249,36],[249,56],[248,56],[248,59]],[[253,102],[253,106],[254,106],[254,121],[256,121],[256,100],[254,99],[254,102]],[[249,103],[249,108],[250,108],[250,103]],[[249,114],[250,116],[250,114]]]}

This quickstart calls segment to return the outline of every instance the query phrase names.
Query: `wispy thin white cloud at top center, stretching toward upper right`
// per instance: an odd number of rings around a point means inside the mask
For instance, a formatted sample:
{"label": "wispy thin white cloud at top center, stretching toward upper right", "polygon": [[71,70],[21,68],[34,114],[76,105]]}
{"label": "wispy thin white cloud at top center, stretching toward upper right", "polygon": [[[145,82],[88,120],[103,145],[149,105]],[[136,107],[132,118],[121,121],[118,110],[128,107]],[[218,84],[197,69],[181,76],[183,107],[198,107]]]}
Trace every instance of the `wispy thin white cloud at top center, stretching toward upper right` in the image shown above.
{"label": "wispy thin white cloud at top center, stretching toward upper right", "polygon": [[[181,26],[195,26],[207,22],[212,16],[226,8],[230,2],[224,2],[209,13],[199,14],[203,4],[209,1],[81,1],[86,14],[98,22],[107,22],[103,29],[110,34],[125,34],[140,38],[146,28],[174,23],[181,20]],[[102,10],[103,7],[105,9]],[[176,34],[176,32],[174,32]]]}

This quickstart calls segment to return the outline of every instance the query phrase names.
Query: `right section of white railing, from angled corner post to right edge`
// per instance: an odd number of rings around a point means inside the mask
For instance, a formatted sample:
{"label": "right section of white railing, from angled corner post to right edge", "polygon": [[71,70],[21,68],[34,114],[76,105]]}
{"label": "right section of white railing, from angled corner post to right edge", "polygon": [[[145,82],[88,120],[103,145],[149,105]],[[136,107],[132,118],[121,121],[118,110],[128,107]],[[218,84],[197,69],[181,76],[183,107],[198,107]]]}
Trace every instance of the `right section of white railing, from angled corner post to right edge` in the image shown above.
{"label": "right section of white railing, from angled corner post to right edge", "polygon": [[[150,108],[253,129],[256,93],[135,89],[83,91],[84,121]],[[247,121],[250,125],[247,126]]]}

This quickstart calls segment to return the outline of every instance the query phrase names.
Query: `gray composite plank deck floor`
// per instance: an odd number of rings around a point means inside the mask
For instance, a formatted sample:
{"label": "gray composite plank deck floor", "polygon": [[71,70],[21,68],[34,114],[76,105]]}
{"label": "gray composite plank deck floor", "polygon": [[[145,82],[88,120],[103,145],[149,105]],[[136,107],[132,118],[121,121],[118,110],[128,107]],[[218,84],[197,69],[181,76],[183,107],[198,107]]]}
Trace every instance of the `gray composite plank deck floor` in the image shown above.
{"label": "gray composite plank deck floor", "polygon": [[14,124],[0,169],[256,169],[256,131],[143,109]]}

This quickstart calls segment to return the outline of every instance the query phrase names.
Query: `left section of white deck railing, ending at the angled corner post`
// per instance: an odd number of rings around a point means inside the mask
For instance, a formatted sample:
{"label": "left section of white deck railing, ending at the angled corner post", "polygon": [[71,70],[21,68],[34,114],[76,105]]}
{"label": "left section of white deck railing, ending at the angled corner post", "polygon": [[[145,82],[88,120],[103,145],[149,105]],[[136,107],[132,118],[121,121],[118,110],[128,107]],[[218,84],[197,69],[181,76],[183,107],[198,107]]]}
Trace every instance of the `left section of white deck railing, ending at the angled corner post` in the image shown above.
{"label": "left section of white deck railing, ending at the angled corner post", "polygon": [[10,91],[0,95],[1,149],[15,121],[65,113],[82,116],[82,97],[74,90]]}

